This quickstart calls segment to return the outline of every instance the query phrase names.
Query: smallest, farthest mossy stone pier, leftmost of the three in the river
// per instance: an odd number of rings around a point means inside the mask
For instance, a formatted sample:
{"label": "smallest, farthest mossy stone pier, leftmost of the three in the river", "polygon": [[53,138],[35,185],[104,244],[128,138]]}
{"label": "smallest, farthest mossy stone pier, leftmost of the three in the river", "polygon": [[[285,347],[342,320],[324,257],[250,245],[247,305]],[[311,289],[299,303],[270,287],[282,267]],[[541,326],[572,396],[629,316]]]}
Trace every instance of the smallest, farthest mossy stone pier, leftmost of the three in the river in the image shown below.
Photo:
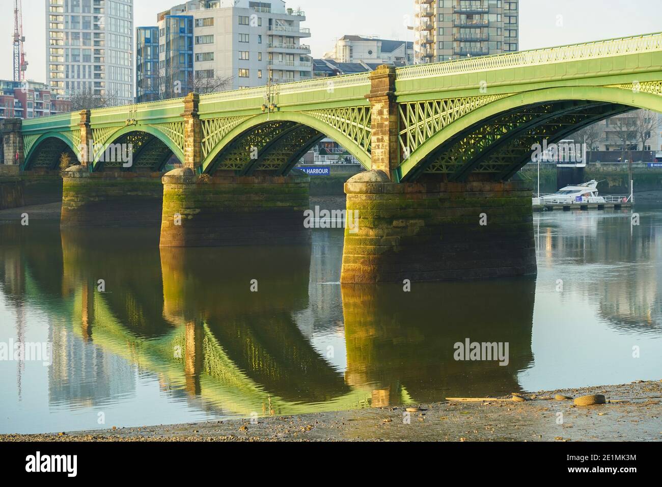
{"label": "smallest, farthest mossy stone pier, leftmost of the three in the river", "polygon": [[73,166],[62,172],[61,227],[158,226],[162,173],[89,172]]}

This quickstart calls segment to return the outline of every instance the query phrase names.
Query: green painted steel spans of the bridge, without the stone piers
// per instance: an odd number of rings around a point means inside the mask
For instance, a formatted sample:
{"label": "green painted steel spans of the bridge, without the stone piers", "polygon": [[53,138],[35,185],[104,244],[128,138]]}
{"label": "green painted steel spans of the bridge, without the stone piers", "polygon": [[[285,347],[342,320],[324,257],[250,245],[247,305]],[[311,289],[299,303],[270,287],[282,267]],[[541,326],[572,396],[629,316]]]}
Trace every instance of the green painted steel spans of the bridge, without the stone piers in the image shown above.
{"label": "green painted steel spans of the bridge, without the stone piers", "polygon": [[[362,73],[201,95],[199,171],[283,174],[322,136],[371,168],[370,91],[370,75]],[[399,117],[395,180],[426,172],[451,181],[476,172],[507,180],[530,158],[536,136],[555,142],[634,108],[662,113],[662,34],[406,66],[396,70],[393,97]],[[183,160],[183,103],[92,110],[94,143],[143,133]],[[78,123],[75,113],[25,121],[26,161],[53,137],[75,151]],[[258,149],[258,158],[250,158],[250,148]]]}

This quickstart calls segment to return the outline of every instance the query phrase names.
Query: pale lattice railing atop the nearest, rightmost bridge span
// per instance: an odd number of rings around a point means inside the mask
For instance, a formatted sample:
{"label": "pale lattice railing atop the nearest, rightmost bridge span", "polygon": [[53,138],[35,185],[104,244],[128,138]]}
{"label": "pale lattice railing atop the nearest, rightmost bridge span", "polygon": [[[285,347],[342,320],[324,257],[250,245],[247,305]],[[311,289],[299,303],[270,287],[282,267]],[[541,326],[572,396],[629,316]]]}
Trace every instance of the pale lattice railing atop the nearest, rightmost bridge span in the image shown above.
{"label": "pale lattice railing atop the nearest, rightmost bridge span", "polygon": [[506,68],[540,66],[557,62],[608,58],[662,50],[662,32],[636,37],[598,40],[546,49],[508,52],[475,59],[452,60],[434,64],[416,64],[397,70],[397,80],[416,80],[432,76],[466,74]]}

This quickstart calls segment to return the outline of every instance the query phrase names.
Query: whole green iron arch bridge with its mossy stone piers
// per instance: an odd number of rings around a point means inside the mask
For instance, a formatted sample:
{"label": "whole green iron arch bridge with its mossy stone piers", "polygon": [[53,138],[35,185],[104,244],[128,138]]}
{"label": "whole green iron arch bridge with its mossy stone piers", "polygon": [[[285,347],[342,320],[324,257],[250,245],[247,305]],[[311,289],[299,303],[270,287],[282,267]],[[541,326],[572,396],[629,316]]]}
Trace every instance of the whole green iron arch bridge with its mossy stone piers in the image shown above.
{"label": "whole green iron arch bridge with its mossy stone piers", "polygon": [[[366,169],[346,184],[358,228],[343,282],[532,274],[517,174],[532,145],[662,112],[661,95],[662,34],[646,34],[9,119],[4,158],[24,174],[79,161],[62,172],[62,225],[156,220],[164,247],[290,243],[308,238],[309,180],[293,168],[326,136]],[[113,144],[130,144],[130,165]],[[183,167],[166,172],[173,157]]]}

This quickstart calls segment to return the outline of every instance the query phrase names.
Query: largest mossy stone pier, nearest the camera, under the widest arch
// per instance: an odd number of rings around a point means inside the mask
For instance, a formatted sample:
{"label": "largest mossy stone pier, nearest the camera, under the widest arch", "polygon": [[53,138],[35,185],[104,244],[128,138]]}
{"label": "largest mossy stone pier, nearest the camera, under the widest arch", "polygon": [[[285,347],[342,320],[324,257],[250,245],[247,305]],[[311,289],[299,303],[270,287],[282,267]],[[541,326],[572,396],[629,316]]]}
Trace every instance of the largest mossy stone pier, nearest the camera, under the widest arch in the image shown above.
{"label": "largest mossy stone pier, nearest the camera, under the widest arch", "polygon": [[[455,280],[536,273],[525,182],[394,183],[385,172],[345,185],[343,283]],[[352,215],[352,219],[356,213]]]}

